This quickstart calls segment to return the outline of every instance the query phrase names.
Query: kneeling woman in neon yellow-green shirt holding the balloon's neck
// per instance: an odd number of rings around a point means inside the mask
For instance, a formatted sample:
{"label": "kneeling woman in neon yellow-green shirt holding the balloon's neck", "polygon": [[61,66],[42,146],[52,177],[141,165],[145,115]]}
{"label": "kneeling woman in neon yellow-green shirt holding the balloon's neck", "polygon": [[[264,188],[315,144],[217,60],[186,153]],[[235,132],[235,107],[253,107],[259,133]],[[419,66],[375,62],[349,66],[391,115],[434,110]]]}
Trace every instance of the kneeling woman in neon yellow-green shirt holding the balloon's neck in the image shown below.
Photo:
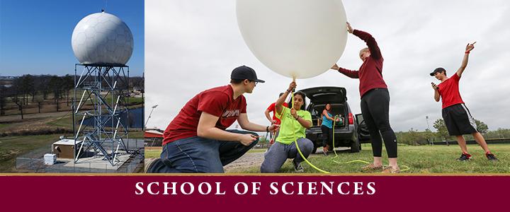
{"label": "kneeling woman in neon yellow-green shirt holding the balloon's neck", "polygon": [[292,100],[288,102],[289,107],[294,106],[293,108],[283,107],[285,98],[295,87],[295,82],[290,83],[285,93],[276,100],[276,117],[281,120],[280,134],[273,146],[264,155],[264,161],[261,165],[262,173],[278,172],[287,158],[294,158],[294,170],[296,172],[303,172],[301,166],[303,158],[297,152],[295,146],[296,140],[305,158],[308,158],[308,155],[312,153],[314,145],[305,135],[305,130],[312,126],[312,115],[305,110],[305,93],[294,93],[294,105]]}

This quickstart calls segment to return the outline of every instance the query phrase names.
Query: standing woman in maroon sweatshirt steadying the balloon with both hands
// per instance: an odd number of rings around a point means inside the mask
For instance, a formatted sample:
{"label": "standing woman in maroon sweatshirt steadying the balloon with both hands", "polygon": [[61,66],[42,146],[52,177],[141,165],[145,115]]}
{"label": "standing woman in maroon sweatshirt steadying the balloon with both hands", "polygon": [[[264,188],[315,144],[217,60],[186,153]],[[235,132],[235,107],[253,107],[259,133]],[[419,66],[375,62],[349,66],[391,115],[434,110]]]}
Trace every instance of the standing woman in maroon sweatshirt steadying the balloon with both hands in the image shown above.
{"label": "standing woman in maroon sweatshirt steadying the balloon with both hands", "polygon": [[[353,30],[347,23],[347,31],[365,41],[368,48],[361,49],[359,56],[363,61],[359,71],[340,68],[334,64],[331,69],[338,70],[350,78],[359,78],[361,95],[361,112],[372,142],[374,162],[363,167],[363,170],[382,170],[387,173],[397,173],[397,137],[390,126],[390,93],[382,79],[382,55],[377,42],[372,35],[361,30]],[[380,133],[380,134],[379,134]],[[381,138],[382,135],[382,138]],[[382,139],[386,146],[390,165],[382,168]]]}

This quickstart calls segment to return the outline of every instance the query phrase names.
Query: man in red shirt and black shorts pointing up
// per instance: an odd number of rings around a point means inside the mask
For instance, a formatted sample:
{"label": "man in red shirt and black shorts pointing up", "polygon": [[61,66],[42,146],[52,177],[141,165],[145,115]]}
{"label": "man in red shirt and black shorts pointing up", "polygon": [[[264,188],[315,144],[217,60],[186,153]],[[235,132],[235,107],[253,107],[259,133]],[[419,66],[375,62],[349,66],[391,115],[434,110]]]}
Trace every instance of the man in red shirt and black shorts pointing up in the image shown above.
{"label": "man in red shirt and black shorts pointing up", "polygon": [[441,83],[436,86],[436,84],[432,83],[432,88],[434,90],[434,100],[439,102],[439,99],[443,102],[443,119],[446,124],[446,128],[448,129],[448,134],[450,136],[457,137],[457,142],[460,146],[460,149],[463,151],[462,155],[458,160],[465,161],[470,160],[471,155],[467,153],[467,146],[465,139],[463,137],[464,134],[472,134],[475,137],[475,140],[485,151],[485,156],[489,160],[497,160],[497,158],[489,151],[487,147],[487,142],[483,138],[482,134],[477,131],[477,126],[475,124],[475,119],[470,114],[470,111],[467,110],[467,107],[464,105],[464,101],[460,98],[459,93],[459,81],[460,76],[462,76],[464,69],[467,66],[467,60],[469,59],[469,54],[472,49],[475,48],[475,43],[467,44],[464,53],[464,59],[460,68],[457,70],[453,76],[448,78],[446,76],[446,70],[443,68],[437,68],[432,73],[431,76],[435,76]]}

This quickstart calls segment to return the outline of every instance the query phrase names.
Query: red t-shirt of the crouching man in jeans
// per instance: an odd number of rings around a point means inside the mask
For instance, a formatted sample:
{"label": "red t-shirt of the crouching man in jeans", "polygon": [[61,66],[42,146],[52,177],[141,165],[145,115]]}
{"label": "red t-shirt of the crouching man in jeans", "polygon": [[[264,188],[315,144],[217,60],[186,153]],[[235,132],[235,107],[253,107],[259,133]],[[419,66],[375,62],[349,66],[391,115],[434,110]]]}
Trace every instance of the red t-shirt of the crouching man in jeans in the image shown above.
{"label": "red t-shirt of the crouching man in jeans", "polygon": [[219,129],[227,129],[239,117],[246,113],[246,99],[240,95],[233,98],[232,86],[211,88],[198,93],[189,100],[181,112],[172,120],[164,131],[163,145],[179,139],[197,136],[198,120],[202,112],[207,112],[220,119],[216,122]]}

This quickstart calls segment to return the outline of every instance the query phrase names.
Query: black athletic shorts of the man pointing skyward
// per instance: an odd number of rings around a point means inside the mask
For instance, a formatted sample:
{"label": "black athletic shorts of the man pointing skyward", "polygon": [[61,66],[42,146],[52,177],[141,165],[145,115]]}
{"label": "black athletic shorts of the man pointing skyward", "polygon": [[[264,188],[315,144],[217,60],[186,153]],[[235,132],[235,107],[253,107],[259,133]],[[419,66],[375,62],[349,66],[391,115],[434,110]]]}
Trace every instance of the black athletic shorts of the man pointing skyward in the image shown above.
{"label": "black athletic shorts of the man pointing skyward", "polygon": [[443,119],[450,136],[460,136],[477,132],[475,119],[464,104],[443,108]]}

